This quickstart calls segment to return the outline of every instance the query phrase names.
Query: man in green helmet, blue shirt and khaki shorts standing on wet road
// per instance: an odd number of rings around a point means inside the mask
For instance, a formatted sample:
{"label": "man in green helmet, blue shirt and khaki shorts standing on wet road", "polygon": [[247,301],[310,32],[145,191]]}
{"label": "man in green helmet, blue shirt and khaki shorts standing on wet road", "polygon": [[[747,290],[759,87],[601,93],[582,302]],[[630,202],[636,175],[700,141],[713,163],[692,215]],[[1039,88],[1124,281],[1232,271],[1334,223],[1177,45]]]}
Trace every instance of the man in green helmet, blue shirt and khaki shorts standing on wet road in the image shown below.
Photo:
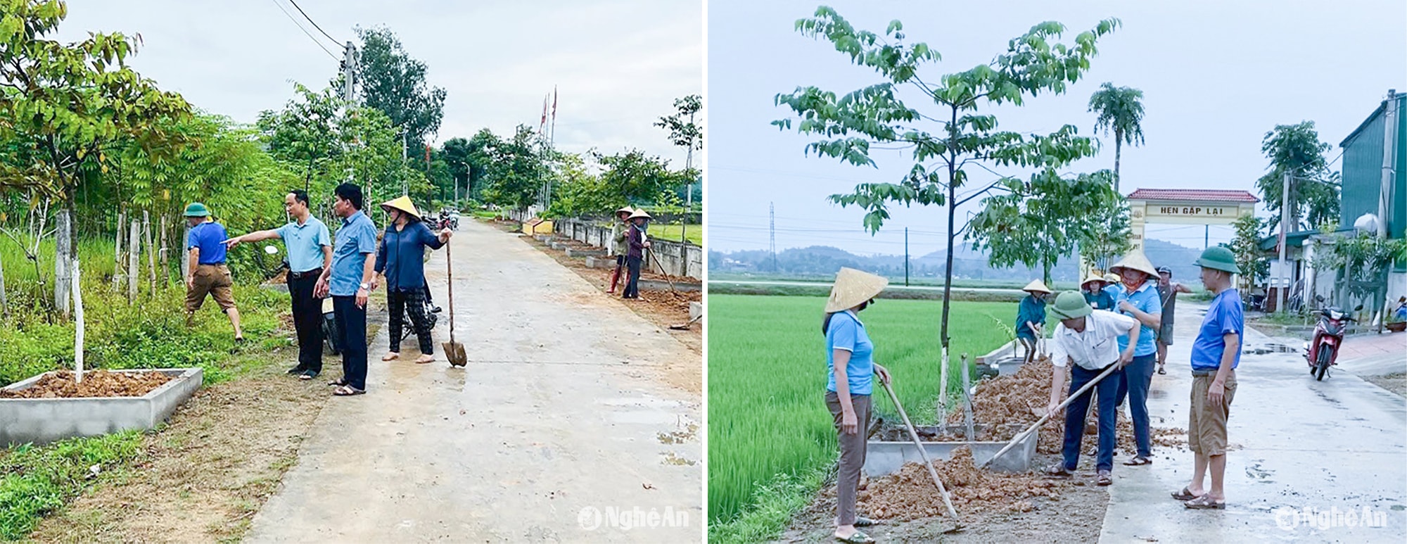
{"label": "man in green helmet, blue shirt and khaki shorts standing on wet road", "polygon": [[[1172,493],[1189,509],[1227,507],[1227,417],[1235,396],[1235,366],[1241,362],[1245,313],[1233,278],[1241,273],[1235,254],[1223,247],[1207,248],[1197,259],[1202,285],[1216,293],[1192,341],[1192,404],[1189,406],[1188,450],[1195,455],[1192,483]],[[1211,489],[1203,488],[1211,469]]]}

